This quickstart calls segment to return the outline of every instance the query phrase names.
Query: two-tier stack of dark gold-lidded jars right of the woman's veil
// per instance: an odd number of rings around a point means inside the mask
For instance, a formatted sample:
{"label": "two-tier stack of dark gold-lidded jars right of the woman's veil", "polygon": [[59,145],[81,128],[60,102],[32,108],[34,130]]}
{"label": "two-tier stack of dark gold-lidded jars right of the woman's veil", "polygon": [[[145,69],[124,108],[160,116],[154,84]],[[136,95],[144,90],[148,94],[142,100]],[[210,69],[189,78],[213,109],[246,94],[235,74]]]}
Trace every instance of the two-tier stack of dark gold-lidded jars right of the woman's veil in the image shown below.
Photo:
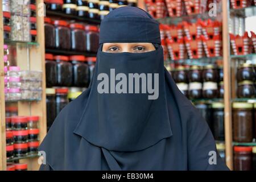
{"label": "two-tier stack of dark gold-lidded jars right of the woman's veil", "polygon": [[[193,65],[189,69],[179,66],[172,71],[172,77],[178,88],[190,99],[223,98],[222,68],[214,65],[199,67]],[[202,83],[203,82],[203,83]]]}

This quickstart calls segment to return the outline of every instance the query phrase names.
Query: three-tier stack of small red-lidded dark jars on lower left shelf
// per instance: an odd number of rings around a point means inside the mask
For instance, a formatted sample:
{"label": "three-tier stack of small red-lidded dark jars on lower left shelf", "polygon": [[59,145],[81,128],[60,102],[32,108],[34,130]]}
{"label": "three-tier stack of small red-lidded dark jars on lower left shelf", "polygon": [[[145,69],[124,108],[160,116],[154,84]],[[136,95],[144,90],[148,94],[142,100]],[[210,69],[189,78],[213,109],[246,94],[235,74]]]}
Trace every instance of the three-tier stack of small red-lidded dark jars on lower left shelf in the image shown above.
{"label": "three-tier stack of small red-lidded dark jars on lower left shelf", "polygon": [[38,121],[38,116],[6,118],[7,159],[38,154]]}

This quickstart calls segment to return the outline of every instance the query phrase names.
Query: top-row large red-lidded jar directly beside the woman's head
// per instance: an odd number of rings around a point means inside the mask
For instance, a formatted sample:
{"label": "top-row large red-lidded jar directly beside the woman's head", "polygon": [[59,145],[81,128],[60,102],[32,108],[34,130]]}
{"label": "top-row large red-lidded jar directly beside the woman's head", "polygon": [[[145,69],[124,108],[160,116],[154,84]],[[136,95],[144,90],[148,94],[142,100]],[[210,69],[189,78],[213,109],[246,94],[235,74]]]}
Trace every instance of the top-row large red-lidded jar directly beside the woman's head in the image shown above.
{"label": "top-row large red-lidded jar directly beside the woman's head", "polygon": [[97,52],[99,47],[99,34],[97,26],[85,26],[86,31],[86,51]]}

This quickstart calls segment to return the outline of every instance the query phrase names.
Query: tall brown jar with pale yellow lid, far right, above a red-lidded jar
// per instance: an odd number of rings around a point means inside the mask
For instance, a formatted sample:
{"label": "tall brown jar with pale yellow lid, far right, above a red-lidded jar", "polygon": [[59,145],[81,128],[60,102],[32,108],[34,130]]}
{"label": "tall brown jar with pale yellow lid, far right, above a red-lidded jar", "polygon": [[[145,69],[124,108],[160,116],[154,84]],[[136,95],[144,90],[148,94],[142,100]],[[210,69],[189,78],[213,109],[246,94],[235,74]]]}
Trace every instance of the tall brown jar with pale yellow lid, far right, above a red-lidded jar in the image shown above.
{"label": "tall brown jar with pale yellow lid, far right, above a red-lidded jar", "polygon": [[233,102],[233,140],[251,142],[253,140],[253,104]]}

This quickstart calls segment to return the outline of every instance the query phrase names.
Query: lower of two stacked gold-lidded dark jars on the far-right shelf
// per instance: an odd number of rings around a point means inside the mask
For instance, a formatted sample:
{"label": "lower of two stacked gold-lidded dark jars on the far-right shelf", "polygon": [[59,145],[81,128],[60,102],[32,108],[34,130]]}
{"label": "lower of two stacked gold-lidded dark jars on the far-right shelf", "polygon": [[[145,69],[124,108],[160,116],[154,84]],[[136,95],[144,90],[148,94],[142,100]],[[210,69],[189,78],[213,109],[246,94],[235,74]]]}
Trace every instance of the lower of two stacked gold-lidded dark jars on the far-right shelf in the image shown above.
{"label": "lower of two stacked gold-lidded dark jars on the far-right shelf", "polygon": [[251,81],[242,81],[238,83],[237,97],[238,98],[252,98],[255,97],[256,91]]}

